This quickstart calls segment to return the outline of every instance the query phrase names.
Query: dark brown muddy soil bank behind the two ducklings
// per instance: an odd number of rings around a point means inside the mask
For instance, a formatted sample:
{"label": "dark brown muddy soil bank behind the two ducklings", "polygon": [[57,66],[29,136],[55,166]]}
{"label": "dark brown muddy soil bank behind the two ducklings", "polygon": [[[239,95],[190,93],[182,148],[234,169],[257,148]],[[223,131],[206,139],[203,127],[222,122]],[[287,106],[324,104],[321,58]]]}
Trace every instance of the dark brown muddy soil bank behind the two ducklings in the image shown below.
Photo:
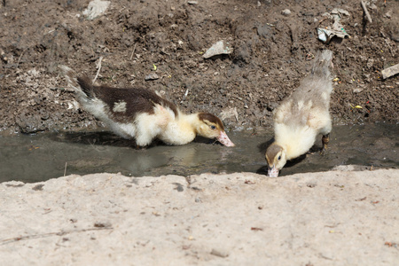
{"label": "dark brown muddy soil bank behind the two ducklings", "polygon": [[[109,85],[164,91],[185,112],[207,110],[229,128],[269,127],[278,103],[309,73],[317,50],[334,52],[334,123],[398,121],[399,5],[369,1],[113,1],[88,20],[89,0],[0,4],[0,131],[3,135],[103,124],[74,100],[58,65]],[[347,39],[325,44],[317,27],[340,8]],[[284,15],[283,10],[290,14]],[[203,59],[217,41],[229,55]],[[156,69],[155,69],[156,68]],[[158,79],[145,81],[148,74]],[[360,108],[361,107],[361,108]]]}

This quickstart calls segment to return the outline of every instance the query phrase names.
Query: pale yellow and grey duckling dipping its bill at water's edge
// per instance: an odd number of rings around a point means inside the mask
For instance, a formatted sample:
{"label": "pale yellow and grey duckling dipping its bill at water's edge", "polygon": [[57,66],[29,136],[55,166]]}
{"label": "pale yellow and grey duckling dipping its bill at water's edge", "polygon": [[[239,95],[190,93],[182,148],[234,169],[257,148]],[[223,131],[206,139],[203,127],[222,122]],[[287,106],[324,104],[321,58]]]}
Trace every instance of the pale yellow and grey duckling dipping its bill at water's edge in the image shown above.
{"label": "pale yellow and grey duckling dipping its bill at water's edge", "polygon": [[319,51],[309,76],[275,110],[275,141],[265,154],[269,176],[278,177],[278,171],[287,160],[307,153],[320,133],[323,135],[322,152],[327,149],[332,129],[329,113],[332,92],[330,66],[332,51]]}

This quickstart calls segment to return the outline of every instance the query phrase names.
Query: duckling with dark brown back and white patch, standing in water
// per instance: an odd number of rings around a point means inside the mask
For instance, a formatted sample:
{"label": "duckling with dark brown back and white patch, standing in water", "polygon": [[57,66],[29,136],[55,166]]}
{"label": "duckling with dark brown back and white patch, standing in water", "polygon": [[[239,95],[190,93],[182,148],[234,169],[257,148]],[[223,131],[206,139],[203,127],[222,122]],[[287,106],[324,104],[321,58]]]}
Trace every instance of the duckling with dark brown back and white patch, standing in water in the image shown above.
{"label": "duckling with dark brown back and white patch, standing in water", "polygon": [[96,86],[88,77],[77,76],[70,67],[59,67],[83,108],[104,121],[115,134],[134,138],[138,146],[150,145],[154,138],[167,145],[185,145],[197,135],[234,146],[222,121],[212,113],[182,113],[156,91]]}

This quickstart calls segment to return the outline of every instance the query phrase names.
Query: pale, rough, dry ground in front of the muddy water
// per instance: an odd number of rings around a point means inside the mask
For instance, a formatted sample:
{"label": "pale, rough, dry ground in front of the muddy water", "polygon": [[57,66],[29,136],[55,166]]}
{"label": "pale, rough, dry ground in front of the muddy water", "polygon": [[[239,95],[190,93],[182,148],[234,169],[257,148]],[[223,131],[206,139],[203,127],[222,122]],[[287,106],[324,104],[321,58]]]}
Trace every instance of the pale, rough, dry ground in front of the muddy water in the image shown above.
{"label": "pale, rough, dry ground in front of the muddy water", "polygon": [[0,184],[1,265],[395,265],[399,171]]}

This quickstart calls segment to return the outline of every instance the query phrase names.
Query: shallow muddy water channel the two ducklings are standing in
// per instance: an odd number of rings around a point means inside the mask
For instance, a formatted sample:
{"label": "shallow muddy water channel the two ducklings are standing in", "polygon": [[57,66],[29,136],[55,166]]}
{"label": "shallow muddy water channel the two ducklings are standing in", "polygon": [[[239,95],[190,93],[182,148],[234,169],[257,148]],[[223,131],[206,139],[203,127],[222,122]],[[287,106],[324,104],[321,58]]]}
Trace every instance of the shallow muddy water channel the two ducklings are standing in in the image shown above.
{"label": "shallow muddy water channel the two ducklings are standing in", "polygon": [[[293,160],[280,176],[330,170],[338,165],[399,168],[399,125],[336,126],[328,153],[317,151]],[[38,182],[70,174],[99,172],[126,176],[192,175],[204,172],[265,174],[264,152],[271,130],[246,129],[229,133],[236,147],[213,145],[205,139],[190,145],[154,145],[137,150],[109,132],[37,134],[0,137],[0,182]],[[314,153],[311,153],[311,152]]]}

